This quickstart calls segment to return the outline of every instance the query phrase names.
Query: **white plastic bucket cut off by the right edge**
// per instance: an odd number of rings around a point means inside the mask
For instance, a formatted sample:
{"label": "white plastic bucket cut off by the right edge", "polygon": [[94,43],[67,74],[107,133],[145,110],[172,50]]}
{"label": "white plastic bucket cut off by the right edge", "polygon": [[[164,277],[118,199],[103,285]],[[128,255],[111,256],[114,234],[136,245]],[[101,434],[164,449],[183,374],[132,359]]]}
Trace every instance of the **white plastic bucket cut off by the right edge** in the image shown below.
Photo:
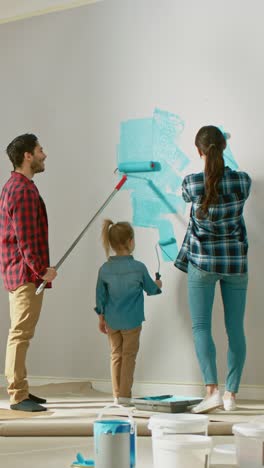
{"label": "white plastic bucket cut off by the right edge", "polygon": [[234,424],[232,431],[235,435],[238,466],[240,468],[263,468],[264,423]]}

